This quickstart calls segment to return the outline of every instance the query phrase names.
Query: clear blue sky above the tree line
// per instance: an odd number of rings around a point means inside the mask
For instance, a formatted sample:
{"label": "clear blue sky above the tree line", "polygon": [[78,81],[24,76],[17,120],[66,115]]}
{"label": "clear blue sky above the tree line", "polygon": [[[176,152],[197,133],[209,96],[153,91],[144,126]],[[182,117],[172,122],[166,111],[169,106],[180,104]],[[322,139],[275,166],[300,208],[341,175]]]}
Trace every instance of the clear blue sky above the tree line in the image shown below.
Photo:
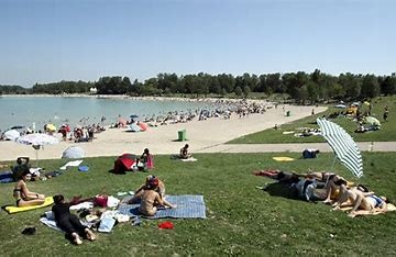
{"label": "clear blue sky above the tree line", "polygon": [[0,85],[396,71],[393,0],[0,0]]}

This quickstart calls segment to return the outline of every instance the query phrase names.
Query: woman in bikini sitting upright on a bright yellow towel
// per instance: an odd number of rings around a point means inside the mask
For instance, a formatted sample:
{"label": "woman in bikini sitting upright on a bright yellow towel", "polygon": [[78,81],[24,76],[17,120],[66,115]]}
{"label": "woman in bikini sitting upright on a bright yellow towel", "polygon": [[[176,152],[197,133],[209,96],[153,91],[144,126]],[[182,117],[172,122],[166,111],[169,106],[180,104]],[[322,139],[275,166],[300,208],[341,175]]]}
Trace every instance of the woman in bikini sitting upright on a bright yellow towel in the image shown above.
{"label": "woman in bikini sitting upright on a bright yellow towel", "polygon": [[23,170],[21,177],[19,178],[15,188],[13,190],[13,197],[16,200],[16,206],[32,206],[40,205],[44,203],[44,194],[36,192],[31,192],[26,187],[26,181],[30,176],[29,169]]}

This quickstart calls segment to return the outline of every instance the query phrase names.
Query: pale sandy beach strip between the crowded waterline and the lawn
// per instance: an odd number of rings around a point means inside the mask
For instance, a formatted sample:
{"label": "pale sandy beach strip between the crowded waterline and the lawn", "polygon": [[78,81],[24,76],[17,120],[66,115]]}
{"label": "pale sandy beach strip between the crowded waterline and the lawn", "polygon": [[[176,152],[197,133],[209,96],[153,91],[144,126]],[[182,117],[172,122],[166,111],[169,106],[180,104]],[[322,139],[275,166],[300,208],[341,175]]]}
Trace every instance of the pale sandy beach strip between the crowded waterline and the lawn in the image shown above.
{"label": "pale sandy beach strip between the crowded waterline and the lawn", "polygon": [[[315,113],[326,110],[324,107],[315,107]],[[285,111],[292,115],[286,116]],[[187,131],[187,143],[191,153],[216,153],[216,146],[222,145],[233,138],[254,132],[274,127],[275,124],[284,124],[311,114],[312,107],[285,105],[272,108],[264,114],[250,114],[239,118],[233,114],[224,120],[212,118],[206,121],[195,119],[188,123],[176,123],[148,127],[146,132],[131,133],[124,128],[108,128],[96,134],[97,137],[89,143],[61,142],[56,145],[44,146],[38,150],[40,159],[57,159],[62,153],[72,145],[81,147],[86,157],[118,156],[123,153],[141,154],[145,147],[155,154],[177,154],[186,142],[177,141],[179,130]],[[59,136],[59,135],[58,135]],[[0,160],[14,160],[19,156],[35,158],[32,146],[16,144],[15,142],[0,142]]]}

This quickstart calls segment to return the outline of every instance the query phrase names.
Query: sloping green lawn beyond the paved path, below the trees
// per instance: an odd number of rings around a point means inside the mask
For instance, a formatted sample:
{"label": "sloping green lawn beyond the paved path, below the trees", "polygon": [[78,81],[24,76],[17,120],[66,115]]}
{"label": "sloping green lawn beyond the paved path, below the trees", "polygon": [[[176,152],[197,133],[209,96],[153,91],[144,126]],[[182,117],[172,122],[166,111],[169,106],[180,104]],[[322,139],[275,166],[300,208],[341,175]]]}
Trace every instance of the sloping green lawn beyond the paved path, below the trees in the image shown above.
{"label": "sloping green lawn beyond the paved path, below the trees", "polygon": [[[337,119],[331,119],[331,121],[340,124],[344,127],[355,141],[361,142],[393,142],[396,141],[396,119],[394,118],[394,111],[396,110],[396,97],[382,97],[374,99],[373,101],[372,115],[377,118],[378,121],[382,122],[382,128],[375,132],[366,132],[354,133],[356,130],[356,123],[350,119],[344,116],[340,116]],[[388,107],[389,118],[388,122],[383,122],[383,113],[385,105]],[[366,107],[362,108],[362,111],[367,109]],[[318,116],[328,115],[336,111],[340,111],[340,109],[333,108],[331,105],[326,112],[317,113],[316,115],[311,115],[288,124],[284,124],[279,130],[265,130],[262,132],[253,133],[250,135],[245,135],[229,142],[229,144],[271,144],[271,143],[317,143],[324,142],[321,136],[309,136],[309,137],[296,137],[293,134],[283,134],[286,131],[295,131],[301,132],[301,130],[297,130],[299,127],[318,127],[318,125],[314,124]],[[293,115],[293,113],[292,113]]]}

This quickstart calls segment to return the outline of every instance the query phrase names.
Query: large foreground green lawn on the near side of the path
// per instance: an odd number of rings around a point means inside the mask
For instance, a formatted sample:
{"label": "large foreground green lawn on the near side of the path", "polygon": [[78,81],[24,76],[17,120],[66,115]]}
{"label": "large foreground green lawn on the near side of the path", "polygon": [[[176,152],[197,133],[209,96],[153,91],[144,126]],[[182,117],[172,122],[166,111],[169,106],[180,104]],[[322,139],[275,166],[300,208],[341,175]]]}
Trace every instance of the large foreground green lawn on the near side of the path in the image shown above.
{"label": "large foreground green lawn on the near side of the path", "polygon": [[[283,154],[299,158],[299,154]],[[0,211],[0,242],[3,256],[280,256],[280,255],[376,255],[395,256],[396,212],[377,216],[350,219],[343,212],[331,212],[329,205],[308,203],[283,197],[282,189],[270,194],[255,189],[273,180],[253,176],[257,169],[278,168],[305,172],[308,168],[326,169],[332,154],[316,159],[277,163],[279,154],[201,154],[196,163],[170,160],[156,156],[153,174],[166,183],[168,194],[204,194],[206,220],[173,220],[173,231],[161,231],[164,220],[143,220],[141,226],[117,225],[110,234],[99,234],[94,243],[69,244],[64,235],[38,222],[51,208],[8,214]],[[365,175],[361,183],[380,194],[396,199],[396,171],[389,159],[394,153],[364,153]],[[112,175],[114,158],[87,158],[88,172],[76,168],[46,180],[30,182],[32,191],[67,198],[109,194],[133,190],[147,174]],[[42,160],[42,167],[54,170],[65,160]],[[339,174],[353,180],[341,165]],[[0,204],[14,202],[13,183],[0,185]],[[24,236],[21,231],[36,226],[37,233]]]}

